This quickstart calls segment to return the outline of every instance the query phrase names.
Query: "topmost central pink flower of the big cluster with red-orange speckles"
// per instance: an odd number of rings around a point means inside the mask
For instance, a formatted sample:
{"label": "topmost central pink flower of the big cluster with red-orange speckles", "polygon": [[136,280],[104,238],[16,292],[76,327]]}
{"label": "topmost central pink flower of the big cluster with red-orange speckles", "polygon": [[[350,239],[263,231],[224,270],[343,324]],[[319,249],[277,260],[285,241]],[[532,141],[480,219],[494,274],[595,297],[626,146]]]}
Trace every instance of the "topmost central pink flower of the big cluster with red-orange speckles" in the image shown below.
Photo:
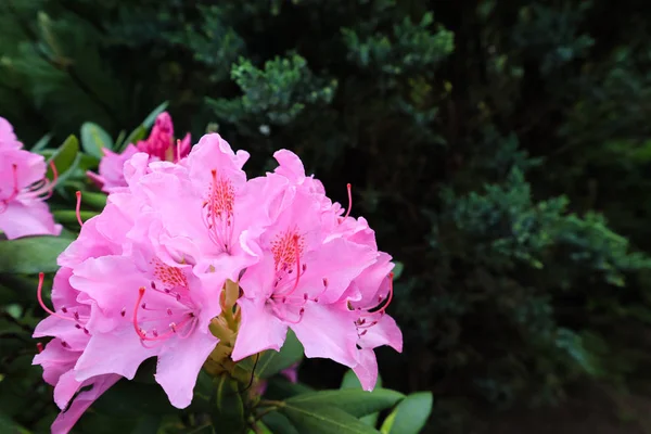
{"label": "topmost central pink flower of the big cluster with red-orange speckles", "polygon": [[169,258],[233,281],[258,260],[255,240],[272,218],[268,204],[273,196],[268,186],[246,181],[242,166],[247,158],[248,153],[234,153],[213,133],[180,164],[153,163],[151,175],[135,175],[130,190],[152,203],[154,218],[165,228],[156,242]]}

